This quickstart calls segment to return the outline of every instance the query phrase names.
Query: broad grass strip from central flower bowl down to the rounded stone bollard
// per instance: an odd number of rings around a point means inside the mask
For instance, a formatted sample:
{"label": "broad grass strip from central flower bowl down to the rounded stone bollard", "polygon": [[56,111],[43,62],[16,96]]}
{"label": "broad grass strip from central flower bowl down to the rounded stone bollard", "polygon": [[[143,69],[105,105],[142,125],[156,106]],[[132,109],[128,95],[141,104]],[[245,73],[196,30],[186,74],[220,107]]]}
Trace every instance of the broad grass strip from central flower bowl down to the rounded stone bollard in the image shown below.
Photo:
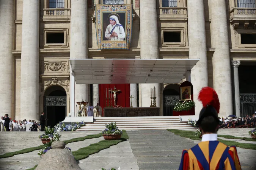
{"label": "broad grass strip from central flower bowl down to the rounded stone bollard", "polygon": [[[72,154],[74,155],[75,160],[79,161],[81,159],[88,158],[90,155],[93,155],[94,153],[98,153],[99,151],[107,149],[120,142],[127,141],[129,136],[125,130],[122,130],[122,131],[123,131],[123,135],[122,135],[122,138],[119,140],[113,140],[113,141],[102,140],[102,141],[99,141],[98,143],[91,144],[88,147],[84,147],[84,148],[80,148],[79,150],[72,151]],[[35,170],[36,167],[37,165],[27,170]]]}

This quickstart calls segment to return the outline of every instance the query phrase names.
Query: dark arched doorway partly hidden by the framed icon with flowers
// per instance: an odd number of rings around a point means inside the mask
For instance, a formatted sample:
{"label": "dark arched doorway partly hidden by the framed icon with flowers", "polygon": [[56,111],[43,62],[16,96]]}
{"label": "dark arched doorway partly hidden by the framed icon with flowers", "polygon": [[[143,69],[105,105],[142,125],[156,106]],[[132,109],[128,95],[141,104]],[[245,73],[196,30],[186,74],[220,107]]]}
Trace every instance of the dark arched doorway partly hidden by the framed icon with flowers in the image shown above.
{"label": "dark arched doorway partly hidden by the framed icon with flowers", "polygon": [[179,85],[167,85],[163,89],[163,116],[173,116],[173,108],[179,100]]}

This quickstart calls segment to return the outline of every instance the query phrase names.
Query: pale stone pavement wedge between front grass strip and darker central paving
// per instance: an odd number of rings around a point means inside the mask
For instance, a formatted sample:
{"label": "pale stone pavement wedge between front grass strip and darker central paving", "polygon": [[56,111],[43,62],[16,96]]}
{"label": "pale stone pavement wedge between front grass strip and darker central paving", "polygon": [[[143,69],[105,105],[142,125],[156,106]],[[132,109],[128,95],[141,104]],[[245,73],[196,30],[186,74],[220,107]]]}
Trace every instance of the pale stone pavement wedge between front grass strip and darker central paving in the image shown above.
{"label": "pale stone pavement wedge between front grass strip and darker central paving", "polygon": [[79,166],[83,170],[118,169],[118,167],[121,170],[139,170],[137,159],[132,153],[129,141],[121,142],[90,155],[89,158],[80,160]]}

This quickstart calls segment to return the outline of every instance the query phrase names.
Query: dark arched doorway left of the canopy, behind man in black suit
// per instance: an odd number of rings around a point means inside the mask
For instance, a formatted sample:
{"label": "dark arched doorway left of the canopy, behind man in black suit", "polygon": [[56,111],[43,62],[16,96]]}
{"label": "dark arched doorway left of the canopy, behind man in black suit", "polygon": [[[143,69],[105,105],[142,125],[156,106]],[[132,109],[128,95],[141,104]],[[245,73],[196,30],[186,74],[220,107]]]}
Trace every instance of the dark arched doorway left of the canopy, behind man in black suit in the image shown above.
{"label": "dark arched doorway left of the canopy, behind man in black suit", "polygon": [[53,85],[44,93],[44,113],[46,126],[53,127],[66,117],[67,94],[64,88]]}

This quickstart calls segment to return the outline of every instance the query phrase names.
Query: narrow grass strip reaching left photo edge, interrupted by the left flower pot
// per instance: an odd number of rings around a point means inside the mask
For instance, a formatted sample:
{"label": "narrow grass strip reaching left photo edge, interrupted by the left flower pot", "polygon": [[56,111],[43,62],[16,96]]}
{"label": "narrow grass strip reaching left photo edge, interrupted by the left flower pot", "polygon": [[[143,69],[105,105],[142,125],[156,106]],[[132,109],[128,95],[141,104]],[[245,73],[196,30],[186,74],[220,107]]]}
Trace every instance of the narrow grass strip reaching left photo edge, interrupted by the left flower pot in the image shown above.
{"label": "narrow grass strip reaching left photo edge, interrupted by the left flower pot", "polygon": [[[84,136],[84,137],[74,138],[74,139],[63,141],[63,142],[65,142],[65,144],[69,144],[69,143],[72,143],[72,142],[79,142],[79,141],[84,141],[86,139],[93,139],[93,138],[99,138],[99,137],[101,137],[101,133],[99,133],[99,134],[90,134],[90,135],[87,135],[87,136]],[[9,158],[9,157],[12,157],[14,155],[28,153],[28,152],[32,152],[32,151],[35,151],[35,150],[40,150],[42,148],[44,148],[44,145],[40,145],[38,147],[25,148],[25,149],[22,149],[22,150],[19,150],[19,151],[14,151],[14,152],[8,152],[8,153],[5,153],[3,155],[0,155],[0,159],[1,158]]]}

